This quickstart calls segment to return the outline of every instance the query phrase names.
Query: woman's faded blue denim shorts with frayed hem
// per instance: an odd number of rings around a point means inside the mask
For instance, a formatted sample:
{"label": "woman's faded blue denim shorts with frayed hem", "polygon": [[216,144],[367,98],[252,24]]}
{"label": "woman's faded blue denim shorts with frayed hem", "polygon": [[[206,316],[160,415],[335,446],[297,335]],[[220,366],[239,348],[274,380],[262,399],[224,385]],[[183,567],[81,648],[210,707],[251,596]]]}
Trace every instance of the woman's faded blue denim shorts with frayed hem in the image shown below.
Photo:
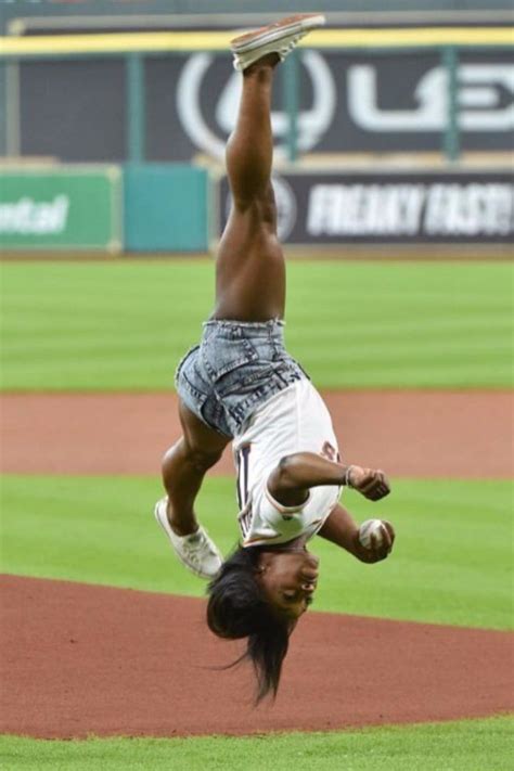
{"label": "woman's faded blue denim shorts with frayed hem", "polygon": [[308,377],[285,350],[284,322],[207,321],[200,345],[177,368],[184,404],[206,425],[233,438],[255,410]]}

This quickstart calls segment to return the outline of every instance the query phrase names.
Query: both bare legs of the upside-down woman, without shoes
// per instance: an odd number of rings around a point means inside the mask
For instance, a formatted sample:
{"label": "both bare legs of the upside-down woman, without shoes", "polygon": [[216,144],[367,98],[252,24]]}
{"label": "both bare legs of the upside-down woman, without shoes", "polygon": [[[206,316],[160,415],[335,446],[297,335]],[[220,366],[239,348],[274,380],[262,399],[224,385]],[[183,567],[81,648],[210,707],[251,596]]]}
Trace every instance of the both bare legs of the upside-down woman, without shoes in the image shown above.
{"label": "both bare legs of the upside-down woman, without shoes", "polygon": [[[227,147],[233,207],[216,261],[218,319],[264,321],[284,313],[285,269],[270,182],[271,86],[278,61],[270,54],[243,75],[237,125]],[[177,535],[187,536],[198,527],[194,500],[203,478],[229,440],[183,404],[180,419],[183,437],[164,458],[163,479],[169,524]]]}

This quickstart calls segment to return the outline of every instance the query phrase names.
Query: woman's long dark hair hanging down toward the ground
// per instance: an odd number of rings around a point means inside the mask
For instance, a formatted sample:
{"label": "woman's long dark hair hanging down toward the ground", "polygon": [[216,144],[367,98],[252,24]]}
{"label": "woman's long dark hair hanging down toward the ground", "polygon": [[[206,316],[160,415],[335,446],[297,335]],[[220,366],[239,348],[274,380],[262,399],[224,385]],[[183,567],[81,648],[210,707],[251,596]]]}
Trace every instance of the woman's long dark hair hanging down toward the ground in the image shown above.
{"label": "woman's long dark hair hanging down toward the ground", "polygon": [[294,624],[267,602],[257,579],[261,547],[239,547],[208,588],[207,625],[219,638],[248,638],[246,652],[232,665],[249,659],[257,678],[256,704],[279,690],[282,663]]}

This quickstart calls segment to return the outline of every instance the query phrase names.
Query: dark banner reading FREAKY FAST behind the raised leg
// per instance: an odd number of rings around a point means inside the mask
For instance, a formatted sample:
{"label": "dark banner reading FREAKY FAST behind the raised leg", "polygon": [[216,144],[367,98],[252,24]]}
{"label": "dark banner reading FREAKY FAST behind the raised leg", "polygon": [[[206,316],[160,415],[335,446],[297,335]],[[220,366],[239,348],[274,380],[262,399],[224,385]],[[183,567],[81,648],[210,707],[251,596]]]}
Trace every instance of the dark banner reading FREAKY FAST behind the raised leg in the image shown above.
{"label": "dark banner reading FREAKY FAST behind the raised leg", "polygon": [[[275,176],[279,237],[288,244],[509,243],[507,171],[309,171]],[[230,209],[220,181],[219,232]]]}

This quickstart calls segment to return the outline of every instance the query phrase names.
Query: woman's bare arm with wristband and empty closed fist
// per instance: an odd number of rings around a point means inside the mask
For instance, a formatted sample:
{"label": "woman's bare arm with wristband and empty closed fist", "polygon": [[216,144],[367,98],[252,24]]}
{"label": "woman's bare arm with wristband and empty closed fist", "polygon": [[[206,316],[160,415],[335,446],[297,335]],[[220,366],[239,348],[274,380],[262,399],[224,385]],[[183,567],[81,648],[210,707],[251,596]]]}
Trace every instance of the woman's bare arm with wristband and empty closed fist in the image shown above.
{"label": "woman's bare arm with wristband and empty closed fist", "polygon": [[268,489],[284,506],[304,503],[311,487],[347,485],[364,498],[377,501],[390,491],[383,471],[345,466],[329,461],[316,452],[297,452],[283,458],[268,479]]}

